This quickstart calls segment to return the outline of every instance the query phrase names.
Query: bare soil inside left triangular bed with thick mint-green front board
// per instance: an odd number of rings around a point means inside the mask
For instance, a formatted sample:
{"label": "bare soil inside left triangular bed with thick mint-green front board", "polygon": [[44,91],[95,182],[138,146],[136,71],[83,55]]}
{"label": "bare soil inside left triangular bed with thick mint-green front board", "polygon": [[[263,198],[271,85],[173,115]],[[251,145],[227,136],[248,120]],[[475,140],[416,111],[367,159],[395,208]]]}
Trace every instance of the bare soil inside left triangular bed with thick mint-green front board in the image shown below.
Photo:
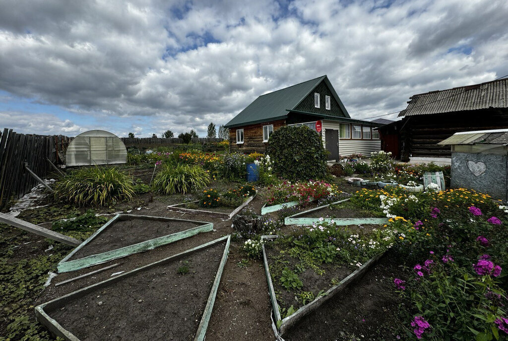
{"label": "bare soil inside left triangular bed with thick mint-green front board", "polygon": [[70,259],[116,250],[199,225],[201,224],[190,221],[158,221],[144,218],[116,220],[79,249]]}

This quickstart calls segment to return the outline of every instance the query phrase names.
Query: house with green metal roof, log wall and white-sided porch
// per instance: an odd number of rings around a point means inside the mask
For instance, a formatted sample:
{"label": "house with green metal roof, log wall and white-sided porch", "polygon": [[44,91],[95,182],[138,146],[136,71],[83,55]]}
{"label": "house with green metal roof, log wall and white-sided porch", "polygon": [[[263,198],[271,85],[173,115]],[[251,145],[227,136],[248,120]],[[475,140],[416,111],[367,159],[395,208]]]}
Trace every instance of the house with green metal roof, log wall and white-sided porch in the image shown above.
{"label": "house with green metal roof, log wall and white-sided porch", "polygon": [[259,96],[225,126],[231,148],[250,153],[264,152],[271,133],[284,125],[320,134],[330,161],[381,149],[380,124],[351,118],[326,75]]}

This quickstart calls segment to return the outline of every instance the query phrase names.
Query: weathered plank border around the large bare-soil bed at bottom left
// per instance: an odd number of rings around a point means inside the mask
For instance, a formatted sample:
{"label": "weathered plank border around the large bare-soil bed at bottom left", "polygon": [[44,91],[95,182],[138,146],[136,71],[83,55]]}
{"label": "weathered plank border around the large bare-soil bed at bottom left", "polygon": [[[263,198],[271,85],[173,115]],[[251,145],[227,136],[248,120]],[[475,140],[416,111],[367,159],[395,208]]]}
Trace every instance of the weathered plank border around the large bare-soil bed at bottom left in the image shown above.
{"label": "weathered plank border around the large bare-soil bed at bottom left", "polygon": [[[185,257],[185,256],[188,256],[190,254],[193,254],[193,253],[195,253],[197,251],[200,251],[200,250],[206,249],[208,247],[211,247],[212,245],[226,242],[226,247],[224,249],[223,257],[221,259],[219,268],[217,270],[217,274],[215,275],[215,281],[214,281],[214,284],[212,286],[212,290],[210,291],[210,295],[208,297],[208,301],[207,301],[207,304],[206,304],[206,307],[205,307],[205,311],[203,313],[203,316],[201,317],[200,325],[198,327],[199,334],[197,332],[196,336],[195,336],[195,341],[202,341],[202,340],[204,340],[204,335],[206,334],[206,329],[208,327],[208,322],[210,320],[211,311],[213,309],[213,301],[215,300],[215,297],[216,297],[217,288],[218,288],[218,285],[219,285],[219,282],[220,282],[220,277],[222,275],[222,272],[224,270],[224,266],[225,266],[227,258],[228,258],[230,241],[231,241],[231,235],[227,235],[227,236],[218,238],[218,239],[216,239],[214,241],[211,241],[211,242],[208,242],[206,244],[203,244],[203,245],[200,245],[198,247],[195,247],[193,249],[181,252],[181,253],[176,254],[174,256],[158,260],[156,262],[153,262],[153,263],[144,265],[142,267],[139,267],[137,269],[131,270],[129,272],[125,272],[125,274],[118,275],[118,276],[113,277],[111,279],[107,279],[105,281],[102,281],[102,282],[90,285],[90,286],[88,286],[86,288],[74,291],[74,292],[69,293],[67,295],[55,298],[55,299],[53,299],[53,300],[51,300],[49,302],[46,302],[46,303],[43,303],[43,304],[40,304],[40,305],[36,306],[36,308],[35,308],[36,317],[37,317],[37,319],[39,320],[39,322],[42,325],[44,325],[46,328],[48,328],[50,330],[50,332],[52,334],[54,334],[56,336],[63,337],[67,341],[80,341],[79,338],[77,338],[73,333],[71,333],[67,329],[63,328],[56,320],[51,318],[45,312],[45,309],[49,309],[49,310],[59,309],[63,305],[68,303],[69,301],[73,300],[74,298],[82,297],[83,295],[86,295],[87,293],[89,293],[91,291],[94,291],[94,290],[97,290],[97,289],[101,289],[101,288],[107,287],[107,286],[109,286],[111,284],[114,284],[116,282],[122,281],[122,280],[124,280],[124,279],[126,279],[126,278],[128,278],[130,276],[133,276],[133,275],[137,274],[137,272],[139,272],[139,271],[142,271],[142,270],[145,270],[145,269],[148,269],[148,268],[151,268],[151,267],[155,267],[157,265],[162,265],[164,263],[168,263],[168,262],[171,262],[171,261],[175,261],[175,260],[178,260],[178,259],[180,259],[182,257]],[[210,299],[212,299],[211,303],[210,303]],[[206,315],[205,315],[205,312],[207,313]],[[203,338],[201,338],[201,336],[200,336],[201,334],[203,335]]]}

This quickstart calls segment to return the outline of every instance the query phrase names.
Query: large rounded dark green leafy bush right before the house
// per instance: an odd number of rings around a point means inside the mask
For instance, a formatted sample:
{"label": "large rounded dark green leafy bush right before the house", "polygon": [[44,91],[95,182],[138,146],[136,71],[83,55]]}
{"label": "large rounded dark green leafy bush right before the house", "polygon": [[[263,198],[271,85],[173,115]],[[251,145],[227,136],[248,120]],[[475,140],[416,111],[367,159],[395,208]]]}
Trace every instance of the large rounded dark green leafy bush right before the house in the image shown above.
{"label": "large rounded dark green leafy bush right before the house", "polygon": [[328,175],[328,152],[320,135],[307,126],[283,126],[275,130],[266,151],[280,178],[322,180]]}

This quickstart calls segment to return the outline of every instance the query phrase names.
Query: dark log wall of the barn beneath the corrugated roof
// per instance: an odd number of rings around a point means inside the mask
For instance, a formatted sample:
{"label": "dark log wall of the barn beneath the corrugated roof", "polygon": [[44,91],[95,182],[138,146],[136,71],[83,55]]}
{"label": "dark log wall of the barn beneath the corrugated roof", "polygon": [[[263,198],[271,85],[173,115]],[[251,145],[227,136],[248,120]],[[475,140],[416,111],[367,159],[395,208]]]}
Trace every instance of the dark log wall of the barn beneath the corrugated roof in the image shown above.
{"label": "dark log wall of the barn beneath the corrugated roof", "polygon": [[508,109],[482,109],[404,117],[400,131],[402,161],[409,157],[451,157],[450,146],[437,145],[460,131],[508,128]]}

